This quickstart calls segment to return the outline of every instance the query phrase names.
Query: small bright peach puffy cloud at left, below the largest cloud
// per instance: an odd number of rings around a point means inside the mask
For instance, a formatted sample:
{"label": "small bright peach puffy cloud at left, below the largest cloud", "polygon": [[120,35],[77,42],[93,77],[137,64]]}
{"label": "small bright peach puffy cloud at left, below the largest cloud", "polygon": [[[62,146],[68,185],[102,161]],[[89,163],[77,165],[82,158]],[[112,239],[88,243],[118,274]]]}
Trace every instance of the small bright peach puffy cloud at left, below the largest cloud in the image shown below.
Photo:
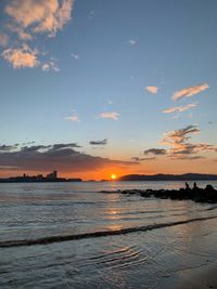
{"label": "small bright peach puffy cloud at left, below the largest cloud", "polygon": [[27,44],[23,44],[17,49],[7,49],[1,56],[12,64],[13,68],[36,67],[39,65],[37,58],[38,51],[31,50]]}

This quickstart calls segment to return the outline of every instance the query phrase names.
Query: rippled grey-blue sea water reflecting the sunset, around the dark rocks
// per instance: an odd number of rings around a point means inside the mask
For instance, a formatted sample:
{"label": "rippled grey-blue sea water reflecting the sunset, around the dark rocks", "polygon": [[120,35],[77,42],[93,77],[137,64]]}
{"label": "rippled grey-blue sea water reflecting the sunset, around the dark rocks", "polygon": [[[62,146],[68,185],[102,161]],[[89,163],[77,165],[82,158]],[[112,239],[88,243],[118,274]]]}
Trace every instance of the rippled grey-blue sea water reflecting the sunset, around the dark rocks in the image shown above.
{"label": "rippled grey-blue sea water reflecting the sunset, around the dark rocks", "polygon": [[0,288],[173,288],[217,262],[217,205],[99,192],[182,186],[0,184]]}

